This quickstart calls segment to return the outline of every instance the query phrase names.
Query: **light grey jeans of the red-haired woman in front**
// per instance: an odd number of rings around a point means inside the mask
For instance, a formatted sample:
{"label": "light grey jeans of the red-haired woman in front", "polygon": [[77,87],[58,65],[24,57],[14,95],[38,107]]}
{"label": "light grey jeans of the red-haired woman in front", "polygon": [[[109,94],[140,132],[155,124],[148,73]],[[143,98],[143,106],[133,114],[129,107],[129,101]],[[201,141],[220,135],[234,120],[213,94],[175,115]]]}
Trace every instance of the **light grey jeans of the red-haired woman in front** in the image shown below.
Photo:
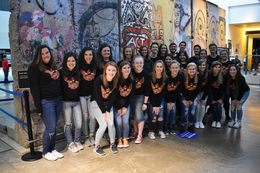
{"label": "light grey jeans of the red-haired woman in front", "polygon": [[[107,103],[108,103],[107,101],[103,102],[105,107],[107,107]],[[101,139],[103,138],[106,128],[108,128],[108,135],[110,137],[110,143],[114,143],[115,136],[116,136],[116,129],[114,126],[113,106],[109,112],[109,116],[110,116],[111,120],[109,119],[108,123],[105,122],[103,114],[102,114],[101,110],[99,109],[99,106],[95,100],[91,102],[91,106],[92,106],[94,115],[96,117],[96,120],[99,123],[99,129],[96,131],[96,141],[95,141],[96,145],[100,145]]]}

